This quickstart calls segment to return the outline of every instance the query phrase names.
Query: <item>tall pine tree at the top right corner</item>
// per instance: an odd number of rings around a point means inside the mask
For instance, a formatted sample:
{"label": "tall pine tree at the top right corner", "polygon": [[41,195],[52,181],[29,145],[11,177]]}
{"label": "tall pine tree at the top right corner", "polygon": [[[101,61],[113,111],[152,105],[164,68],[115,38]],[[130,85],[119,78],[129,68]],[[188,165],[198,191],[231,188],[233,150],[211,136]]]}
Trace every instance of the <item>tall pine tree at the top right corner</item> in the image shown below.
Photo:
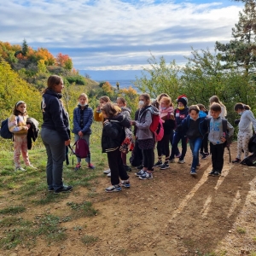
{"label": "tall pine tree at the top right corner", "polygon": [[232,28],[232,37],[228,44],[216,42],[216,49],[222,52],[220,59],[226,63],[224,68],[235,64],[247,75],[256,67],[256,0],[246,1],[238,23]]}

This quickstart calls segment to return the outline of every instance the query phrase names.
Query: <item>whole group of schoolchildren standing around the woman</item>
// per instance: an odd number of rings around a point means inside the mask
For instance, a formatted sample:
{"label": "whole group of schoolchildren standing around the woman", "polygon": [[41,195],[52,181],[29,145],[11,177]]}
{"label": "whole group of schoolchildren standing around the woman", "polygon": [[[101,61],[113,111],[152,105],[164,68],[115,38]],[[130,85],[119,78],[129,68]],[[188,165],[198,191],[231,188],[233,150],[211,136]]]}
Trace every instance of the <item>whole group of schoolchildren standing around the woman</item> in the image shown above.
{"label": "whole group of schoolchildren standing around the woman", "polygon": [[[108,96],[99,99],[99,106],[93,111],[88,105],[88,96],[82,93],[79,96],[79,106],[73,110],[73,133],[75,140],[83,138],[90,145],[91,124],[93,119],[102,122],[102,152],[108,154],[109,169],[104,171],[111,177],[111,185],[105,189],[106,192],[118,192],[121,187],[130,188],[129,175],[131,167],[126,163],[126,152],[120,150],[121,144],[127,137],[127,131],[134,126],[136,137],[136,148],[139,148],[143,155],[143,166],[136,173],[139,179],[153,178],[154,167],[165,170],[170,167],[178,158],[178,163],[185,163],[187,143],[192,153],[190,174],[196,176],[196,169],[200,166],[199,155],[206,159],[212,154],[211,176],[219,176],[224,166],[224,147],[228,137],[234,133],[234,128],[225,119],[226,108],[219,101],[218,96],[209,99],[209,112],[202,104],[188,107],[187,96],[177,97],[177,108],[166,93],[160,94],[155,102],[151,102],[150,96],[143,93],[139,96],[136,119],[131,119],[131,109],[126,107],[125,98],[119,97],[113,104]],[[237,155],[233,163],[241,162],[241,153],[248,156],[249,139],[253,136],[253,129],[256,131],[256,120],[247,105],[236,103],[236,113],[241,115],[239,120],[239,132],[237,136]],[[162,119],[164,136],[157,142],[158,160],[154,163],[155,137],[150,130],[154,115],[160,115]],[[26,103],[17,102],[14,113],[9,118],[9,130],[14,132],[15,143],[15,170],[25,171],[20,166],[20,151],[26,166],[31,166],[28,159],[26,147],[26,133],[29,125],[26,125]],[[127,130],[128,129],[128,130]],[[129,132],[128,132],[129,133]],[[181,141],[182,151],[177,147]],[[210,152],[208,151],[208,141]],[[169,145],[172,145],[170,151]],[[164,160],[162,160],[164,156]],[[86,158],[90,169],[94,169],[90,162],[90,154]],[[81,168],[81,159],[77,158],[75,171]],[[119,180],[120,178],[120,180]]]}

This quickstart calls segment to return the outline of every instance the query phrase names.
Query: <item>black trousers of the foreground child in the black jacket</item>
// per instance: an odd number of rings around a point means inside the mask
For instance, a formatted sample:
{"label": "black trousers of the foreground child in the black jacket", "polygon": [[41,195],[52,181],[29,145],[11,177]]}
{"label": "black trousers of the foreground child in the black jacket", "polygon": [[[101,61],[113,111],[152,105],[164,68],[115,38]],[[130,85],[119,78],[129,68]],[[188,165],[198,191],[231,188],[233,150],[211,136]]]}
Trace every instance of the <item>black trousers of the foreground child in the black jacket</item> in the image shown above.
{"label": "black trousers of the foreground child in the black jacket", "polygon": [[114,151],[108,152],[108,166],[111,170],[111,184],[118,185],[119,177],[121,180],[126,180],[129,178],[127,172],[125,171],[125,166],[123,165],[123,160],[121,158],[121,151],[119,148]]}

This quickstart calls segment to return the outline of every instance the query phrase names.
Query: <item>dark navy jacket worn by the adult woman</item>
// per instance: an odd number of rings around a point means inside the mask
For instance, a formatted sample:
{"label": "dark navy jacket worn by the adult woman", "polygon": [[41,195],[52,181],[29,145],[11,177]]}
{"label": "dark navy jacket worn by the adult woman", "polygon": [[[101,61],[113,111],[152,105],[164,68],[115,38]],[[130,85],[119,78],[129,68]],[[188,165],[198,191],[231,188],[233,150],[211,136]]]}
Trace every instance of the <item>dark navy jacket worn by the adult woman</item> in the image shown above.
{"label": "dark navy jacket worn by the adult woman", "polygon": [[42,127],[55,130],[63,141],[69,140],[67,133],[67,114],[61,104],[61,94],[47,89],[43,95],[42,111],[44,123]]}

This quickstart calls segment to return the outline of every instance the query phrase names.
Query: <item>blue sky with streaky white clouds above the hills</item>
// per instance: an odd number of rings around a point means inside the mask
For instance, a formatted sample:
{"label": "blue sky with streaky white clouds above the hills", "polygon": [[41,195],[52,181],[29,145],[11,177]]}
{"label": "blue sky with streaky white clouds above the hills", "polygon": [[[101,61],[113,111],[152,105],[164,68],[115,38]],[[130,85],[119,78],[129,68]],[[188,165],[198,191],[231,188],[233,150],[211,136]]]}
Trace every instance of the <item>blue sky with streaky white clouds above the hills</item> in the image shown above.
{"label": "blue sky with streaky white clouds above the hills", "polygon": [[67,54],[95,80],[132,80],[150,53],[184,65],[191,47],[228,42],[242,8],[226,0],[1,0],[0,41]]}

